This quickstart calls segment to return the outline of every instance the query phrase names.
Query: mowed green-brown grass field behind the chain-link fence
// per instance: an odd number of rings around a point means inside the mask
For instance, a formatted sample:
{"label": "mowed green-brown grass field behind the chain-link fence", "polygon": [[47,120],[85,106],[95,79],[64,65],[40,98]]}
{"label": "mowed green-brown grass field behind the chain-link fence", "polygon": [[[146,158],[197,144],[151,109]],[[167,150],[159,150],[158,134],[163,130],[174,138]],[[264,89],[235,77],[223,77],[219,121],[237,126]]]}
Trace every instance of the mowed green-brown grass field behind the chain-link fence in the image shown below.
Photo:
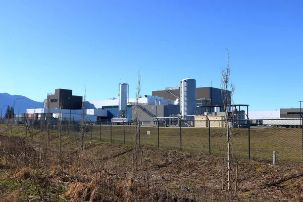
{"label": "mowed green-brown grass field behind the chain-link fence", "polygon": [[[38,129],[38,128],[36,128]],[[57,128],[52,128],[57,131]],[[79,127],[70,125],[62,127],[64,134],[79,136]],[[147,131],[150,134],[147,135]],[[118,144],[133,144],[134,126],[88,125],[86,138]],[[125,134],[125,135],[124,135]],[[180,128],[159,128],[159,148],[180,150]],[[210,147],[209,147],[210,140]],[[158,147],[158,128],[141,127],[140,145]],[[227,138],[224,128],[182,128],[182,151],[195,154],[226,155]],[[302,129],[300,128],[251,128],[250,158],[262,162],[272,162],[273,151],[276,151],[278,164],[303,162]],[[233,159],[248,160],[248,129],[233,129]]]}

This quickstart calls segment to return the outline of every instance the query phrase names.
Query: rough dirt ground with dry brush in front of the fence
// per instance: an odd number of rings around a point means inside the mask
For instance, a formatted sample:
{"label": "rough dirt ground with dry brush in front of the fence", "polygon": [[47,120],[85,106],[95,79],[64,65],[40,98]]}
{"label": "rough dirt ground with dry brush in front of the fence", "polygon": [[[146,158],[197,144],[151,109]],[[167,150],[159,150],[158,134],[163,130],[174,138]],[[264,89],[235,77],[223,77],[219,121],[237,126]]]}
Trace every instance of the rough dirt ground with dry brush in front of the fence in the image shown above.
{"label": "rough dirt ground with dry brush in front of the fence", "polygon": [[[119,145],[0,127],[2,201],[302,201],[303,167]],[[41,141],[42,140],[42,141]],[[136,166],[137,162],[137,166]],[[235,190],[237,176],[237,189]]]}

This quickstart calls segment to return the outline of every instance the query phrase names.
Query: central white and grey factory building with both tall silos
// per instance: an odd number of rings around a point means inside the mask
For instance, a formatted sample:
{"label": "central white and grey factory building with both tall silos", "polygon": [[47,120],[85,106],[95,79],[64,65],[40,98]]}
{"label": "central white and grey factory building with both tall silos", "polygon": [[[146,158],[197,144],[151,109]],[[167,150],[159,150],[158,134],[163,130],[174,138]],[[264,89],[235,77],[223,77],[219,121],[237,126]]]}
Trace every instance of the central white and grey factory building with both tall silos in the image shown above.
{"label": "central white and grey factory building with both tall silos", "polygon": [[[135,98],[128,97],[128,84],[119,83],[119,98],[107,100],[90,101],[96,109],[107,109],[108,119],[123,118],[129,121],[135,119],[136,113],[139,120],[155,121],[161,119],[181,116],[183,119],[193,119],[191,115],[197,115],[214,109],[201,109],[199,106],[208,106],[212,103],[221,104],[223,99],[221,89],[218,88],[196,88],[196,80],[186,78],[180,81],[180,86],[165,88],[164,91],[153,91],[153,95]],[[198,92],[198,94],[197,94]],[[213,99],[211,99],[213,98]],[[138,108],[136,108],[138,103]],[[191,116],[191,117],[190,117]],[[119,119],[115,119],[119,120]]]}

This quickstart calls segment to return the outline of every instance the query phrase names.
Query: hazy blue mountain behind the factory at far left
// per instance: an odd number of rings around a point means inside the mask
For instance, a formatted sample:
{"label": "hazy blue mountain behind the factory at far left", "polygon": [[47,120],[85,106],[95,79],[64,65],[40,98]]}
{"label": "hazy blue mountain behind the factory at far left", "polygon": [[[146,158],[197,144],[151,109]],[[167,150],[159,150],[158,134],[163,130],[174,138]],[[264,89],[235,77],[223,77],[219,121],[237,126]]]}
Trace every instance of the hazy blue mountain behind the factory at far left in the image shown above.
{"label": "hazy blue mountain behind the factory at far left", "polygon": [[[26,109],[34,109],[34,108],[43,108],[43,103],[36,102],[32,99],[29,99],[25,96],[22,95],[10,95],[9,93],[0,93],[0,108],[3,108],[2,110],[2,117],[5,115],[5,111],[7,109],[7,106],[9,105],[14,106],[14,101],[17,98],[22,98],[18,99],[15,102],[15,114],[23,114],[26,113]],[[5,106],[5,107],[3,107]],[[1,114],[1,109],[0,109],[0,114]]]}

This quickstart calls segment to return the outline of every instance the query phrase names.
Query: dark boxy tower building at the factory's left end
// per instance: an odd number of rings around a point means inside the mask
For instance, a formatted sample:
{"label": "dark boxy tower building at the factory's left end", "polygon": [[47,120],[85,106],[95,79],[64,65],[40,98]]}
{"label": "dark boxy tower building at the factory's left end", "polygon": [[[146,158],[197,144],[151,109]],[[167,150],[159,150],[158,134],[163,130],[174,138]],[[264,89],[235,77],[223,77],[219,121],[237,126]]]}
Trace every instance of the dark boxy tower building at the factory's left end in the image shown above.
{"label": "dark boxy tower building at the factory's left end", "polygon": [[82,107],[82,96],[73,95],[72,90],[55,89],[55,94],[47,95],[44,106],[50,109],[80,110]]}

